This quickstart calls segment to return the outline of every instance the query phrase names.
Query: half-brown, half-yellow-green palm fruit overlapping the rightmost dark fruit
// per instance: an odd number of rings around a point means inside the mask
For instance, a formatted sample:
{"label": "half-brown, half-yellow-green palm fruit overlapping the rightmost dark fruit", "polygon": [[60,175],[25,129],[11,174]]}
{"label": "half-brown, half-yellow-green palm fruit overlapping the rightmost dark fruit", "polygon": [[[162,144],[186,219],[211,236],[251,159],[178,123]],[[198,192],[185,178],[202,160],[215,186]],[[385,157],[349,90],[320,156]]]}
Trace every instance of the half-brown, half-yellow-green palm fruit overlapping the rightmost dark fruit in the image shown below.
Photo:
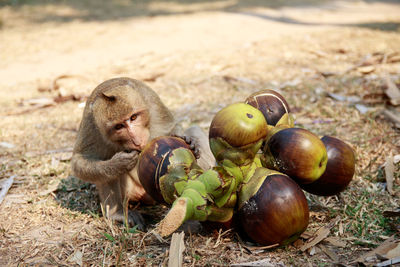
{"label": "half-brown, half-yellow-green palm fruit overlapping the rightmost dark fruit", "polygon": [[264,147],[265,165],[300,184],[316,181],[328,160],[324,143],[302,128],[287,128],[272,135]]}

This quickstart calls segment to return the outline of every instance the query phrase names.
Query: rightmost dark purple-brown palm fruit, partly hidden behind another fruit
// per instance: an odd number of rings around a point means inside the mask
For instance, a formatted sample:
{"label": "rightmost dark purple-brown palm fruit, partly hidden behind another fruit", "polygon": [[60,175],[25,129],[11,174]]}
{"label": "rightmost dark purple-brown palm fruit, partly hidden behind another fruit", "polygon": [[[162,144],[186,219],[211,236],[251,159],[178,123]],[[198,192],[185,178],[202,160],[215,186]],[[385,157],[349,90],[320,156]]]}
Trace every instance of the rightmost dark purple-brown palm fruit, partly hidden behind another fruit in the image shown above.
{"label": "rightmost dark purple-brown palm fruit, partly hidden behind another fruit", "polygon": [[326,170],[318,180],[301,187],[311,194],[333,196],[343,191],[353,178],[355,156],[353,149],[338,138],[324,136],[321,140],[328,152]]}

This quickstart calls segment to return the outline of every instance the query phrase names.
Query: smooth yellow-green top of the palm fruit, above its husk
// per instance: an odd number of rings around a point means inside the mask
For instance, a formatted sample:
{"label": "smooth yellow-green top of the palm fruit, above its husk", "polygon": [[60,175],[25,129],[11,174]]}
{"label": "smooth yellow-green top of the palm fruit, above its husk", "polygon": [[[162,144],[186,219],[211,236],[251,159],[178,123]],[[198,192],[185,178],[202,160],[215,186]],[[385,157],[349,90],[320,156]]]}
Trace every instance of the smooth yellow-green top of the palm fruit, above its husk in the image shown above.
{"label": "smooth yellow-green top of the palm fruit, above its husk", "polygon": [[221,109],[210,126],[210,139],[221,138],[233,147],[256,143],[267,134],[267,122],[258,109],[244,103]]}

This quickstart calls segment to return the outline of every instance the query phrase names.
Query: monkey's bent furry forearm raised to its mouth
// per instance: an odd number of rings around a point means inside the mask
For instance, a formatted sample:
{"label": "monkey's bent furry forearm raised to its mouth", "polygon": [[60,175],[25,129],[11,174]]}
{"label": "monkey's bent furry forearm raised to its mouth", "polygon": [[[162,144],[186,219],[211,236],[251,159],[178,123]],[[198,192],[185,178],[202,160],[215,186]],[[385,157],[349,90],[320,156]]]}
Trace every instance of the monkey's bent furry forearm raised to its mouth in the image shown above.
{"label": "monkey's bent furry forearm raised to its mouth", "polygon": [[118,152],[109,160],[93,159],[81,153],[73,155],[72,171],[82,180],[103,184],[126,174],[132,170],[138,160],[138,152]]}

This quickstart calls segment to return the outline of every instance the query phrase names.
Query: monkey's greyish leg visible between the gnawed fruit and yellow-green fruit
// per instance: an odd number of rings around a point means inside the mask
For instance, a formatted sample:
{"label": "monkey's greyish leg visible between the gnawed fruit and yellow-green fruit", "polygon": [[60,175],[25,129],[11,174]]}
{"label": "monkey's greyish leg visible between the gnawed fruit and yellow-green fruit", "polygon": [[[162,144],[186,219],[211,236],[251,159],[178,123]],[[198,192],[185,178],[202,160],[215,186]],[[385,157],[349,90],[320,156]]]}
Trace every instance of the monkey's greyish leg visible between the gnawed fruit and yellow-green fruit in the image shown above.
{"label": "monkey's greyish leg visible between the gnawed fruit and yellow-green fruit", "polygon": [[209,140],[206,133],[200,127],[192,126],[185,131],[184,135],[194,140],[195,146],[200,152],[200,158],[197,160],[197,164],[199,164],[203,170],[208,170],[214,167],[215,158],[210,150]]}

